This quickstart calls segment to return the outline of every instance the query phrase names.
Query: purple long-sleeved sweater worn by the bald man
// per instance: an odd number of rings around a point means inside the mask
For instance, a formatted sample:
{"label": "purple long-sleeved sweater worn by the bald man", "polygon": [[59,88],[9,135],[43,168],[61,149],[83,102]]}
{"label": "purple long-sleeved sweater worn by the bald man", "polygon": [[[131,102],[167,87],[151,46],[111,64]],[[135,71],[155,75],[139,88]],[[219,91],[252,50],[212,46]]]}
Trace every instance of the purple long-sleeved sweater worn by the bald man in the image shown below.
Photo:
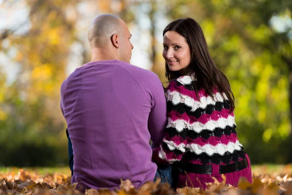
{"label": "purple long-sleeved sweater worn by the bald man", "polygon": [[72,183],[85,188],[135,187],[155,177],[152,148],[165,136],[166,99],[151,71],[124,61],[89,62],[61,86],[61,111],[73,145]]}

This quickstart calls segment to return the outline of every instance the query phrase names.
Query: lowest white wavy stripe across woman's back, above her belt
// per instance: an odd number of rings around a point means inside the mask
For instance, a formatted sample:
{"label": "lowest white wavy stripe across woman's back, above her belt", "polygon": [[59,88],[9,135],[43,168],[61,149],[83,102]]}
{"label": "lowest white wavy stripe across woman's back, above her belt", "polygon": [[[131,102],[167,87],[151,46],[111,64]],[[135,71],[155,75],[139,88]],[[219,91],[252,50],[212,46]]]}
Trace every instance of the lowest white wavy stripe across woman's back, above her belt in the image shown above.
{"label": "lowest white wavy stripe across woman's back, above her belt", "polygon": [[187,144],[186,148],[189,149],[190,152],[196,153],[197,155],[206,153],[209,156],[214,154],[223,156],[226,152],[233,153],[235,150],[241,150],[240,146],[242,147],[242,145],[237,140],[235,143],[229,142],[227,145],[219,143],[217,146],[212,146],[211,144],[200,146],[199,144],[192,143]]}

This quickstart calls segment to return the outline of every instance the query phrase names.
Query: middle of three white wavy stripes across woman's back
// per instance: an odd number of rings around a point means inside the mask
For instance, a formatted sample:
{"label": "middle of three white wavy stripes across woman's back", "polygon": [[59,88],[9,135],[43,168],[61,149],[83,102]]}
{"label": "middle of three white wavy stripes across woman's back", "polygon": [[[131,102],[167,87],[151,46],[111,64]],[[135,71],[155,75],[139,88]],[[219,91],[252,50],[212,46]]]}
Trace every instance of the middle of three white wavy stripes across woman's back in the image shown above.
{"label": "middle of three white wavy stripes across woman's back", "polygon": [[220,117],[218,120],[209,120],[205,124],[199,121],[189,123],[189,121],[185,121],[183,119],[177,119],[173,121],[170,117],[168,117],[168,123],[166,128],[174,127],[178,132],[183,131],[183,128],[188,128],[189,130],[200,133],[204,129],[207,129],[209,131],[214,131],[215,128],[224,129],[227,125],[230,127],[236,125],[235,118],[233,116],[229,115],[227,118]]}

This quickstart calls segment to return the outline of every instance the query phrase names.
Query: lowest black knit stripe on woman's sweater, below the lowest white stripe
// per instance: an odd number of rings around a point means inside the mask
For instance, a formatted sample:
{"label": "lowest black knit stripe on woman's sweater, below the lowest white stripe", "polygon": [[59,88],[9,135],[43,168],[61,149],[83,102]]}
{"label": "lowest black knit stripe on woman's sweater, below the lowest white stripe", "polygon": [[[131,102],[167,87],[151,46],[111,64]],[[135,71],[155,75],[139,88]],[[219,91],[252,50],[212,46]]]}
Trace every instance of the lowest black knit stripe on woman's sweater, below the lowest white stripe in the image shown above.
{"label": "lowest black knit stripe on woman's sweater, below the lowest white stripe", "polygon": [[226,152],[223,156],[219,154],[214,154],[212,156],[207,155],[206,153],[201,153],[200,155],[197,155],[196,153],[187,151],[183,155],[183,159],[186,161],[190,160],[201,160],[203,164],[207,163],[215,163],[219,164],[221,162],[224,162],[226,164],[229,164],[230,161],[238,162],[239,158],[245,158],[245,152],[243,151],[243,147],[241,147],[240,151],[235,150],[233,153]]}

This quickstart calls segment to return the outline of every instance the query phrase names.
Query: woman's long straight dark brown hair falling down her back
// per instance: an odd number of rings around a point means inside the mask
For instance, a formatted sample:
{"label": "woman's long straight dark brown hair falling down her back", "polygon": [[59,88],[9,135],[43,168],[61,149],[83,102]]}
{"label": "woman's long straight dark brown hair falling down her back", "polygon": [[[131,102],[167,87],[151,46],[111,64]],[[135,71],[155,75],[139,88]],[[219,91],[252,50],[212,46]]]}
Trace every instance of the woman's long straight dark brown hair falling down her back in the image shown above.
{"label": "woman's long straight dark brown hair falling down her back", "polygon": [[[230,112],[235,108],[234,95],[226,76],[216,67],[212,59],[206,39],[199,23],[191,18],[183,18],[170,22],[163,31],[163,36],[167,31],[174,31],[183,36],[188,43],[191,51],[191,62],[185,67],[184,75],[195,73],[196,81],[194,82],[194,89],[196,96],[198,90],[201,88],[214,99],[214,89],[217,89],[222,97],[223,93],[229,100]],[[170,71],[165,62],[165,77],[168,81],[177,79],[181,75],[178,71]]]}

